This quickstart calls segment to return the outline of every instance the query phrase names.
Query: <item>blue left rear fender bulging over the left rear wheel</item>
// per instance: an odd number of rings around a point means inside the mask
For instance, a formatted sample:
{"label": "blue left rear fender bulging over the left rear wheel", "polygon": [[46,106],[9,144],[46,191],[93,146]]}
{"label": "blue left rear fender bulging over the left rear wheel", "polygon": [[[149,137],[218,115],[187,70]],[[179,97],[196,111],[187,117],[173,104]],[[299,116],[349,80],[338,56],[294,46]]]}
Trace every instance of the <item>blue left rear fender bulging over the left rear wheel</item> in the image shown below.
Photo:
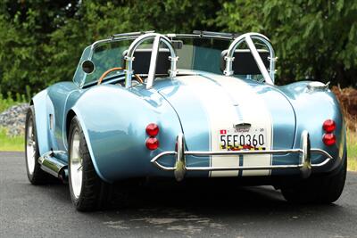
{"label": "blue left rear fender bulging over the left rear wheel", "polygon": [[[72,111],[77,115],[95,171],[106,182],[162,173],[150,163],[160,152],[173,151],[182,132],[179,118],[160,94],[153,90],[95,86],[82,94]],[[131,92],[130,92],[131,91]],[[160,127],[159,149],[145,147],[145,127]],[[172,164],[174,158],[163,160]]]}

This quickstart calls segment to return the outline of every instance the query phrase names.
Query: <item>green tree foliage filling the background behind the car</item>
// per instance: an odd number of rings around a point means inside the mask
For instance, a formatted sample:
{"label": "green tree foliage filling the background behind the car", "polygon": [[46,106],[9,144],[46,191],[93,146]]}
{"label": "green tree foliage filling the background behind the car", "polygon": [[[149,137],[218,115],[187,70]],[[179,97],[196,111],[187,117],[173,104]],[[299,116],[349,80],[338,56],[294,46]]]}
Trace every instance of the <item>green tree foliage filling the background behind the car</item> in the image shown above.
{"label": "green tree foliage filling the background behind the car", "polygon": [[149,29],[257,31],[275,46],[278,84],[312,78],[357,87],[353,0],[2,0],[0,93],[71,80],[86,45]]}

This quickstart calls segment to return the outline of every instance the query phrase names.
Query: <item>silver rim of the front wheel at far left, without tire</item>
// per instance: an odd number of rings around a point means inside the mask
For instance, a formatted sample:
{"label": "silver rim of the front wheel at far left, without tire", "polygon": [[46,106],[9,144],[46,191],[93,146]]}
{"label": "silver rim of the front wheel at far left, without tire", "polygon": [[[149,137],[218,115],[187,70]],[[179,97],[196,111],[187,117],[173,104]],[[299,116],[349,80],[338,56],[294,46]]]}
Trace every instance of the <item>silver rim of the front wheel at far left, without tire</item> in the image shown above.
{"label": "silver rim of the front wheel at far left, without tire", "polygon": [[26,160],[28,162],[29,174],[33,175],[36,165],[36,140],[34,135],[33,119],[28,120],[26,136]]}

